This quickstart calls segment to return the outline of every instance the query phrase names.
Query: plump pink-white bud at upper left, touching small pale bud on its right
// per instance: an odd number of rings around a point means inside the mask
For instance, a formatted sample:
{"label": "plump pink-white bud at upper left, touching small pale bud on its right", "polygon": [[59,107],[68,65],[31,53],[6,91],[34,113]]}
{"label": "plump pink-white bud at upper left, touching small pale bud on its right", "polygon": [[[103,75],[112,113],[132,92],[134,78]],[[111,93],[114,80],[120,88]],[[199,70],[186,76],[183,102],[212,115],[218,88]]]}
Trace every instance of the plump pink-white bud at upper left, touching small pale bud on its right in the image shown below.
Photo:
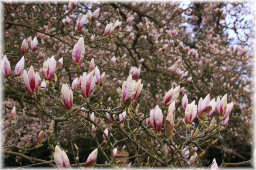
{"label": "plump pink-white bud at upper left, touching small pale bud on its right", "polygon": [[56,60],[54,56],[44,61],[43,74],[45,80],[52,80],[56,68]]}

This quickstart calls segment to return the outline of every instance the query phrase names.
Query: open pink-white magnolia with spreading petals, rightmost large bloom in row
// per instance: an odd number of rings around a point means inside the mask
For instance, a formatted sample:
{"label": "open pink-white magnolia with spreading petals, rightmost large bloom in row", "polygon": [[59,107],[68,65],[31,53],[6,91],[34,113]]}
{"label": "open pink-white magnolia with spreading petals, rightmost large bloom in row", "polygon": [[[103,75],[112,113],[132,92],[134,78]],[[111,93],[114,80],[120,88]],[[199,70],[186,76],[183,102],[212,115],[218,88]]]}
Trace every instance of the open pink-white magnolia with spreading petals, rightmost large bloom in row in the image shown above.
{"label": "open pink-white magnolia with spreading petals, rightmost large bloom in row", "polygon": [[233,109],[234,103],[231,102],[229,104],[227,104],[227,98],[228,95],[225,94],[221,100],[220,97],[218,96],[217,101],[216,101],[216,110],[217,110],[217,114],[219,116],[223,116],[223,120],[230,115],[231,110]]}

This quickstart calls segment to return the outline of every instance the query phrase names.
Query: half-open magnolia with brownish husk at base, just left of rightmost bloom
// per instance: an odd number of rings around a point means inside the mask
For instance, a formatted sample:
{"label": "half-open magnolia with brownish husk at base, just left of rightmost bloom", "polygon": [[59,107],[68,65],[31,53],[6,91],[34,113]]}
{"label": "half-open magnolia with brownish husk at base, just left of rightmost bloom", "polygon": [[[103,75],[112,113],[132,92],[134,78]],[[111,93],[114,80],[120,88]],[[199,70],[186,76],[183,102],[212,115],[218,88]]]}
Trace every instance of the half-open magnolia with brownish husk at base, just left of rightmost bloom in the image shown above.
{"label": "half-open magnolia with brownish husk at base, just left of rightmost bloom", "polygon": [[210,94],[208,94],[204,99],[200,98],[197,107],[197,113],[200,119],[206,119],[207,114],[212,110],[212,106],[209,106]]}

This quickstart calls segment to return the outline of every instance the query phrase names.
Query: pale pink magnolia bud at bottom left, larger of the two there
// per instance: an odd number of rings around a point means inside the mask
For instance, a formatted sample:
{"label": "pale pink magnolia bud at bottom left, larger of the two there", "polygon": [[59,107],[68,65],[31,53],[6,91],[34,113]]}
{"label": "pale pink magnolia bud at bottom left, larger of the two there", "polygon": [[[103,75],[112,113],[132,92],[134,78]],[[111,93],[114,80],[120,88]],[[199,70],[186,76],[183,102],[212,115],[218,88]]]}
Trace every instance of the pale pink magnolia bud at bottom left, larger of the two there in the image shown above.
{"label": "pale pink magnolia bud at bottom left, larger of the two there", "polygon": [[53,154],[53,158],[55,161],[55,164],[57,165],[58,169],[63,168],[70,168],[69,159],[62,149],[58,145],[55,146],[55,152]]}

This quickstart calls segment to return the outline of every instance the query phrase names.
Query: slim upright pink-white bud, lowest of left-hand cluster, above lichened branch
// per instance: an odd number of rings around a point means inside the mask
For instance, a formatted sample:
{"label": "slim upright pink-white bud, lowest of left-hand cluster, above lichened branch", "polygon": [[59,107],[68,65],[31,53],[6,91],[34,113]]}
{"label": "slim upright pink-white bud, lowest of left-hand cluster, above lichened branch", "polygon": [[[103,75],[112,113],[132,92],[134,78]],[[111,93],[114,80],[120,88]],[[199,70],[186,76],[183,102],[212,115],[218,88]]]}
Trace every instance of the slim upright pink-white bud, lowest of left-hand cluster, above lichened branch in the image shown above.
{"label": "slim upright pink-white bud, lowest of left-hand cluster, above lichened branch", "polygon": [[73,107],[73,92],[67,84],[62,84],[62,100],[67,110]]}

